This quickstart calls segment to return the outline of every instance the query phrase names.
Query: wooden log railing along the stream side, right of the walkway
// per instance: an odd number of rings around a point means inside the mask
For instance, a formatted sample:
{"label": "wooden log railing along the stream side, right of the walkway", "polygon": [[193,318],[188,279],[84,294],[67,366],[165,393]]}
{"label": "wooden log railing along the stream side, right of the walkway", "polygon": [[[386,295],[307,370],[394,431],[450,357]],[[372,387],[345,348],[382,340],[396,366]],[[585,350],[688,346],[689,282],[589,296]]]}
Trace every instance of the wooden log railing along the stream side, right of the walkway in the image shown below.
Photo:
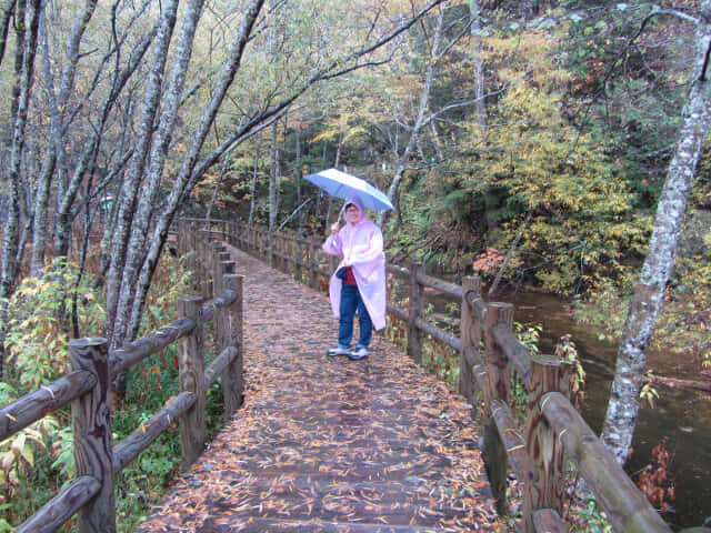
{"label": "wooden log railing along the stream side, right of the walkway", "polygon": [[[237,222],[212,221],[203,228],[314,289],[328,286],[336,268],[336,258],[321,251],[322,239],[309,240],[288,232],[270,235],[264,228]],[[572,463],[614,531],[671,532],[571,404],[568,363],[553,356],[531,355],[519,342],[511,328],[511,304],[484,302],[478,278],[465,278],[458,285],[425,275],[417,263],[409,269],[388,264],[388,272],[407,279],[410,288],[407,310],[388,304],[389,313],[408,325],[408,353],[421,362],[425,335],[460,353],[459,391],[472,405],[483,404],[482,455],[500,511],[505,512],[511,467],[523,485],[523,531],[565,532],[561,520],[568,486],[565,465]],[[460,338],[424,319],[425,288],[460,299]],[[525,388],[525,422],[521,428],[513,412],[514,376]]]}

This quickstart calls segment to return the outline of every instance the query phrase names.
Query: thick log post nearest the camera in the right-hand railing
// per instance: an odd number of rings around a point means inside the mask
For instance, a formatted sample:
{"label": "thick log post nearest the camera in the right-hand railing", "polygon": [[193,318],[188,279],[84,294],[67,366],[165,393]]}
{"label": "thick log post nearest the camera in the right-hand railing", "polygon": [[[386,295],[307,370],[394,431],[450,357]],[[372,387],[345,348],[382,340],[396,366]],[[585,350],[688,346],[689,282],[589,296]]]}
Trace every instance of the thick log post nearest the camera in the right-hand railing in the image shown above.
{"label": "thick log post nearest the camera in the right-hand railing", "polygon": [[562,443],[541,412],[541,398],[560,392],[571,398],[571,369],[555,356],[531,354],[525,440],[528,479],[524,483],[523,521],[525,533],[535,533],[533,515],[541,509],[552,509],[562,515],[564,469]]}

